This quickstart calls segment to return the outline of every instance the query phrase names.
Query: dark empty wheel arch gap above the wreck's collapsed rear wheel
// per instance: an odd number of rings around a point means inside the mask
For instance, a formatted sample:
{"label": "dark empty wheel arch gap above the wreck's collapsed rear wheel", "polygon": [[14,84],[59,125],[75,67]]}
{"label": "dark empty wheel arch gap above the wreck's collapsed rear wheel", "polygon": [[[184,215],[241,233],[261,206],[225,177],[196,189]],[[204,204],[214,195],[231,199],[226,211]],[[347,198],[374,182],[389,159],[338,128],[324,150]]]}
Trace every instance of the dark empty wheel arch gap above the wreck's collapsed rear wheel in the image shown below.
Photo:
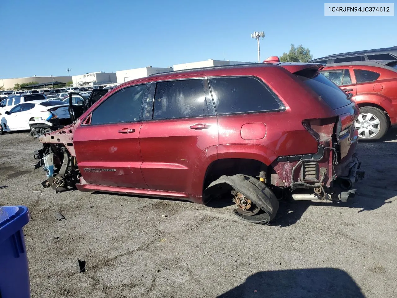
{"label": "dark empty wheel arch gap above the wreck's collapsed rear wheel", "polygon": [[222,175],[233,176],[237,174],[244,174],[247,176],[256,177],[261,171],[267,171],[268,166],[261,161],[255,159],[217,159],[212,162],[205,173],[203,183],[203,196],[205,196],[205,189],[211,182],[217,180]]}

